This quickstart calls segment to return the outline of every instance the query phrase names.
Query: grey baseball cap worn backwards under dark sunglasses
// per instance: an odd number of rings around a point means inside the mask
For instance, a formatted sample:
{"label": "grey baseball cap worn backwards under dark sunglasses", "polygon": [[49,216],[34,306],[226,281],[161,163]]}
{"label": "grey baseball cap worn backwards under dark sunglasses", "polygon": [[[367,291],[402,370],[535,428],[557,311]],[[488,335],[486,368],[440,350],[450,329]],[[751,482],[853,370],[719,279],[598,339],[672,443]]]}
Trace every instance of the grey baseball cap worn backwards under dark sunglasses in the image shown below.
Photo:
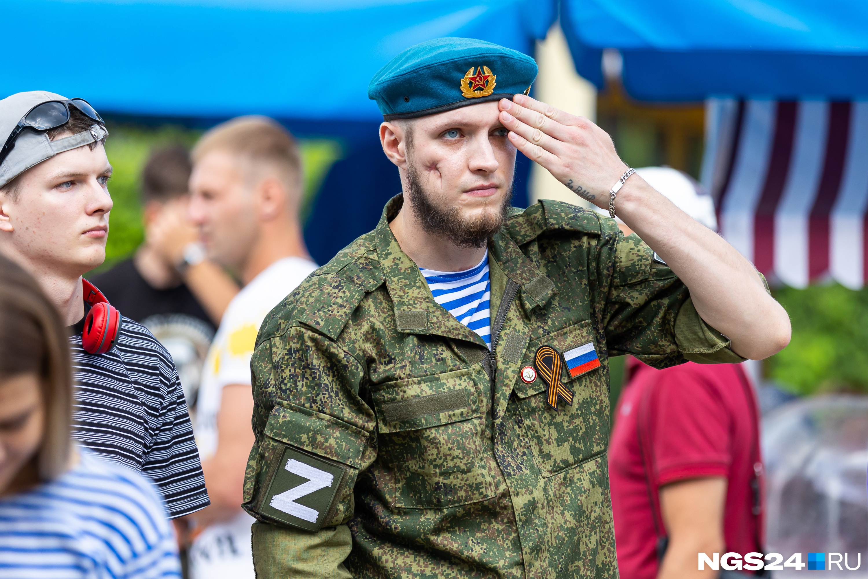
{"label": "grey baseball cap worn backwards under dark sunglasses", "polygon": [[[87,115],[94,124],[76,135],[50,141],[46,131],[69,121],[69,107]],[[90,104],[79,98],[44,90],[32,90],[7,96],[0,101],[0,188],[27,169],[51,157],[101,141],[109,135],[102,117]]]}

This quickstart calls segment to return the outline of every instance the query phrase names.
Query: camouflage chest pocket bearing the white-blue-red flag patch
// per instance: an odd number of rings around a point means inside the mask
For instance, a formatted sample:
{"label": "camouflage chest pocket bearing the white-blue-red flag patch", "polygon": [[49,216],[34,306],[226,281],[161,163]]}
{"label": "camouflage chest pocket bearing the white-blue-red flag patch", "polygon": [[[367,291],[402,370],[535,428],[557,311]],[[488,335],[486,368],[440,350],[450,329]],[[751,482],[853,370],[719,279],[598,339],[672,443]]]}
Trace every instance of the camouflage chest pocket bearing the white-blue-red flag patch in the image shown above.
{"label": "camouflage chest pocket bearing the white-blue-red flag patch", "polygon": [[545,401],[548,386],[538,374],[530,384],[516,380],[514,391],[536,464],[543,477],[551,477],[606,451],[608,385],[606,373],[595,362],[599,354],[590,321],[531,343],[522,365],[533,365],[536,349],[546,344],[571,357],[563,365],[561,382],[573,391],[573,405],[561,399],[556,411],[549,408]]}

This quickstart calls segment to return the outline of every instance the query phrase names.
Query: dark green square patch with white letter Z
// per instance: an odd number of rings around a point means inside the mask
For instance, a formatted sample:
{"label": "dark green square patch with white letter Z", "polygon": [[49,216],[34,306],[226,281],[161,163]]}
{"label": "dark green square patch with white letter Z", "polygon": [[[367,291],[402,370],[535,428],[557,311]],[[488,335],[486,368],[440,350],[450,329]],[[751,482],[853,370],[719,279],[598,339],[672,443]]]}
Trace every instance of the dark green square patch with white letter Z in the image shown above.
{"label": "dark green square patch with white letter Z", "polygon": [[340,466],[286,446],[260,513],[299,529],[318,531],[343,477]]}

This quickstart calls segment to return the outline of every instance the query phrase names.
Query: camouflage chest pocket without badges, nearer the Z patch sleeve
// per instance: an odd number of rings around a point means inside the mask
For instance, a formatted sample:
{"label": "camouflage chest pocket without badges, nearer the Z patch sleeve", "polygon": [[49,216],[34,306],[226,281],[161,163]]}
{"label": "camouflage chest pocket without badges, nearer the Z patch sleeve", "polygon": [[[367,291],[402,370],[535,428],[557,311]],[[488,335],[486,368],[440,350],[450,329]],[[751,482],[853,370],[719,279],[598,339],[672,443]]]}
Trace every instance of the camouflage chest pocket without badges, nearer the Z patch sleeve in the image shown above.
{"label": "camouflage chest pocket without badges, nearer the Z patch sleeve", "polygon": [[372,398],[378,461],[392,477],[383,487],[393,506],[445,508],[494,495],[485,391],[469,370],[378,385]]}

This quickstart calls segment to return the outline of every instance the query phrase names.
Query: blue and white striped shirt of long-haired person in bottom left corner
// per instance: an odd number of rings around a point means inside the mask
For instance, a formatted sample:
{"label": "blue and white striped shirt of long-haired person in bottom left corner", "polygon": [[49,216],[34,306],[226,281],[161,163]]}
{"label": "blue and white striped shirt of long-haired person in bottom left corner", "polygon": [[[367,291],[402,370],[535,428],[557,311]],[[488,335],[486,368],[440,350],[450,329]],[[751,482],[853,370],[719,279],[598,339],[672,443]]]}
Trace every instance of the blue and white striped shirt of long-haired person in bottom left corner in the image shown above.
{"label": "blue and white striped shirt of long-haired person in bottom left corner", "polygon": [[0,497],[0,577],[180,577],[174,532],[151,484],[79,454],[56,480]]}

